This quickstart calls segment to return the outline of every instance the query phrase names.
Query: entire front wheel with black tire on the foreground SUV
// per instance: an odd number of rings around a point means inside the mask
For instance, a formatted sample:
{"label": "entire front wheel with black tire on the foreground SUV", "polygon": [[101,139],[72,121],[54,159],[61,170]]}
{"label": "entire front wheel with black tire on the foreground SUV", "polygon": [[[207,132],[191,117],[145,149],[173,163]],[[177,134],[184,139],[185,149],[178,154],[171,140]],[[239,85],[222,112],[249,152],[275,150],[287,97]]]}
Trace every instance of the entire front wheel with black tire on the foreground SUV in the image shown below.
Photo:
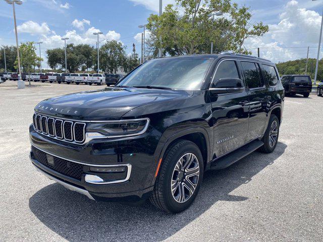
{"label": "entire front wheel with black tire on the foreground SUV", "polygon": [[[195,175],[187,177],[185,176],[186,173],[178,169],[181,159],[182,162],[185,159],[191,160],[184,171],[195,172]],[[187,163],[184,163],[185,165]],[[187,169],[189,170],[187,171]],[[169,213],[184,211],[193,203],[199,191],[203,171],[203,157],[197,145],[191,141],[179,140],[165,152],[163,163],[161,163],[159,174],[155,180],[154,190],[149,198],[150,202],[157,208]],[[174,184],[173,186],[177,186],[173,192],[171,183]],[[191,189],[194,189],[194,187],[195,189],[190,192],[186,184],[189,184]],[[183,189],[184,193],[180,192],[180,188]],[[180,196],[181,194],[184,194],[184,196]]]}

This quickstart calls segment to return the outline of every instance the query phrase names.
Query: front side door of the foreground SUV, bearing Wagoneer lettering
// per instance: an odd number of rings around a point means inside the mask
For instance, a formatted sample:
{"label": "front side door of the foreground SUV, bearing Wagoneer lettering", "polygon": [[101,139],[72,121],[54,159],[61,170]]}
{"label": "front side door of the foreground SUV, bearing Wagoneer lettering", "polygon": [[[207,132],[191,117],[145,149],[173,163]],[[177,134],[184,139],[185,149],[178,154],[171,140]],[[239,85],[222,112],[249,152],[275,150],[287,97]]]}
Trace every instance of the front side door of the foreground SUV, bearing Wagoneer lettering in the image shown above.
{"label": "front side door of the foreground SUV, bearing Wagoneer lettering", "polygon": [[[218,64],[211,88],[221,78],[240,78],[236,61]],[[247,91],[241,93],[211,94],[213,118],[213,159],[245,144],[248,131],[249,100]]]}

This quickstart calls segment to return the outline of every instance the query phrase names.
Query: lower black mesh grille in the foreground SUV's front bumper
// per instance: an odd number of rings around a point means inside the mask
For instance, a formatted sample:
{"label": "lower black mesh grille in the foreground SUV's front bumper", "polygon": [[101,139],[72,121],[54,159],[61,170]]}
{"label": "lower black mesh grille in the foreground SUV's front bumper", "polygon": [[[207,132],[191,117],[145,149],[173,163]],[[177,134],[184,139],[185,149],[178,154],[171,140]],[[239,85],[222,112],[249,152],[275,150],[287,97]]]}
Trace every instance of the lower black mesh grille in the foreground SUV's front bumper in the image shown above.
{"label": "lower black mesh grille in the foreground SUV's front bumper", "polygon": [[83,165],[71,162],[56,156],[48,155],[45,152],[31,146],[32,156],[49,169],[55,170],[63,175],[81,180]]}

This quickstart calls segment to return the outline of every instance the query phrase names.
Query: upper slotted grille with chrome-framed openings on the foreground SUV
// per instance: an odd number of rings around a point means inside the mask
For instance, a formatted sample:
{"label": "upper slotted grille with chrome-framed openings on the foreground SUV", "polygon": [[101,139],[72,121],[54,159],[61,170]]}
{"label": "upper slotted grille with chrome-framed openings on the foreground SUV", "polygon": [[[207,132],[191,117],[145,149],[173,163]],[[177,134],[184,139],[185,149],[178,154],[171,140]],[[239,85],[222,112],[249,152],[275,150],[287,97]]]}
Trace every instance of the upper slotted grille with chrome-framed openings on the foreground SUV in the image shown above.
{"label": "upper slotted grille with chrome-framed openings on the foreground SUV", "polygon": [[34,130],[51,138],[72,143],[83,143],[85,140],[85,123],[33,115]]}

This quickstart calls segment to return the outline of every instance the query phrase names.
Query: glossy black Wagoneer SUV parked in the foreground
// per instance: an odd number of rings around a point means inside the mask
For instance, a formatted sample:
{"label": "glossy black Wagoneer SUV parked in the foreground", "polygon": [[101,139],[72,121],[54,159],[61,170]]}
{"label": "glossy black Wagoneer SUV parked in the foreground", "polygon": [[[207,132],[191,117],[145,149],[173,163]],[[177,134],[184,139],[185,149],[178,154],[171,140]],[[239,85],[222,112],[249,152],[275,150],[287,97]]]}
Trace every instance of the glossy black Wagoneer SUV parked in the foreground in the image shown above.
{"label": "glossy black Wagoneer SUV parked in the foreground", "polygon": [[284,88],[275,65],[232,53],[148,61],[115,87],[35,107],[30,158],[97,201],[142,201],[180,212],[203,173],[259,149],[272,152]]}

